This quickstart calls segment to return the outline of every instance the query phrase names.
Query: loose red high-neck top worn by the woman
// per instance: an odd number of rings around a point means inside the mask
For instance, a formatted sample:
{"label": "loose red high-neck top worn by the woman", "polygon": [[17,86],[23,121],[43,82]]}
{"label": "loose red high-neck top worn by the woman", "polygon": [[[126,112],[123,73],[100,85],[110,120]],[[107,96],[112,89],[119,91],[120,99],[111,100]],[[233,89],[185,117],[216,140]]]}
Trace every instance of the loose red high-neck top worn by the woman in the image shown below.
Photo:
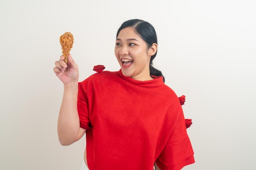
{"label": "loose red high-neck top worn by the woman", "polygon": [[195,162],[181,98],[162,76],[151,76],[137,81],[121,69],[101,70],[79,82],[90,170],[153,170],[155,161],[161,170],[181,170]]}

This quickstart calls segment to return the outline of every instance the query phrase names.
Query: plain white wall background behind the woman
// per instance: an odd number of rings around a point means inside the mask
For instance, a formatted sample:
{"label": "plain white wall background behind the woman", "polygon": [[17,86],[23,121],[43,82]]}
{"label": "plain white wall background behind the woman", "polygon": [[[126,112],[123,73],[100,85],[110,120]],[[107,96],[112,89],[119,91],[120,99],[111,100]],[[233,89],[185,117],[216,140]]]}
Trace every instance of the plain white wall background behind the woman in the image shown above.
{"label": "plain white wall background behind the woman", "polygon": [[61,146],[57,135],[59,37],[74,35],[70,53],[83,81],[94,65],[120,69],[116,33],[134,18],[155,27],[154,66],[186,96],[195,163],[183,169],[254,169],[255,8],[253,0],[1,0],[0,169],[80,168],[85,136]]}

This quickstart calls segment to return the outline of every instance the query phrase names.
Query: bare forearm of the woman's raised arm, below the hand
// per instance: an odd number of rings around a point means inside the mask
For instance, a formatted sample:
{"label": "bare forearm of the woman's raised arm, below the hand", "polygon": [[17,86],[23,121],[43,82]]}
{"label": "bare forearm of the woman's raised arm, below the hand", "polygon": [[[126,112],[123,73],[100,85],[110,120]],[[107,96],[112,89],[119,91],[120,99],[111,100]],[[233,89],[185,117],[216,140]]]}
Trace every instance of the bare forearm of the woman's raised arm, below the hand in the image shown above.
{"label": "bare forearm of the woman's raised arm, below the hand", "polygon": [[78,82],[64,85],[63,100],[58,116],[58,139],[62,145],[76,142],[79,133],[77,94]]}

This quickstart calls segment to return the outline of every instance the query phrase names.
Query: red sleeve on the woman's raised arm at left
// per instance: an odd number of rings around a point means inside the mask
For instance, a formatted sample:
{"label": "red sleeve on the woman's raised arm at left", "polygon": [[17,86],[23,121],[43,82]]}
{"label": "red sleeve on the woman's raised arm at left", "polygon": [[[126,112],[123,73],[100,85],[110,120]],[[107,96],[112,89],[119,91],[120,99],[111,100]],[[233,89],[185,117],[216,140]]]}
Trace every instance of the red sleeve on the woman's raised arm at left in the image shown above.
{"label": "red sleeve on the woman's raised arm at left", "polygon": [[78,95],[77,95],[77,111],[79,115],[80,127],[83,129],[91,129],[92,126],[89,120],[88,113],[88,84],[89,78],[82,82],[78,82]]}

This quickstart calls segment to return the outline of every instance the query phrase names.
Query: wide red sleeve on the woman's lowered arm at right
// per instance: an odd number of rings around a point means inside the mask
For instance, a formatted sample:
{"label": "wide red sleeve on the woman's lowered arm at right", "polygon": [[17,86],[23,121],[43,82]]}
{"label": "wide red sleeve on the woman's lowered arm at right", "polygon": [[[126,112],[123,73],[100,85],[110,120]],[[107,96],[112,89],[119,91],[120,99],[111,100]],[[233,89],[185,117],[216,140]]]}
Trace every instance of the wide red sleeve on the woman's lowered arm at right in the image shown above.
{"label": "wide red sleeve on the woman's lowered arm at right", "polygon": [[182,108],[179,114],[174,129],[156,160],[161,170],[181,170],[184,166],[195,163]]}

